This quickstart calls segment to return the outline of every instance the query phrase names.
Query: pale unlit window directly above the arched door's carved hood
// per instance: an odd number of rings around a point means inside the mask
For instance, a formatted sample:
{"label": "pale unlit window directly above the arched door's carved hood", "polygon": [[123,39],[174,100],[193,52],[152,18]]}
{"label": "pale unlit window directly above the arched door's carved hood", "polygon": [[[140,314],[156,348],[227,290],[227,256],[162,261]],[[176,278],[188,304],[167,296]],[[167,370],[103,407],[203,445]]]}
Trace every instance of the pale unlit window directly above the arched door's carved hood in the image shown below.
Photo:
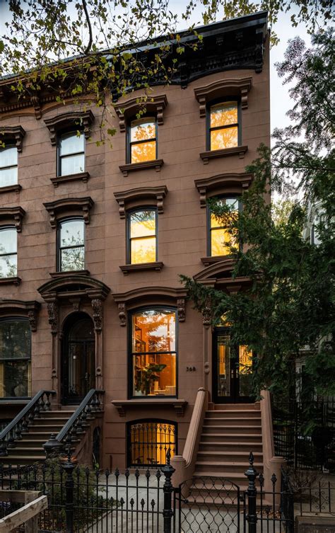
{"label": "pale unlit window directly above the arched door's carved hood", "polygon": [[68,219],[58,226],[58,270],[85,269],[85,228],[83,219]]}

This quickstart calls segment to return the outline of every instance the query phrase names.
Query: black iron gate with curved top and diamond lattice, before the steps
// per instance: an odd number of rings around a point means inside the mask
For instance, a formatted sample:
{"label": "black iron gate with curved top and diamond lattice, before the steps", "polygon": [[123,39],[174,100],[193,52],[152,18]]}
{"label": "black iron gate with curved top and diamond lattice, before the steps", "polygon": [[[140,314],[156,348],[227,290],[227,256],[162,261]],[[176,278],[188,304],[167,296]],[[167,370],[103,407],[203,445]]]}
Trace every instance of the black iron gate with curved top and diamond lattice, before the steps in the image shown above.
{"label": "black iron gate with curved top and diamond lattice, before the steps", "polygon": [[224,478],[194,477],[175,492],[175,533],[245,533],[245,491]]}

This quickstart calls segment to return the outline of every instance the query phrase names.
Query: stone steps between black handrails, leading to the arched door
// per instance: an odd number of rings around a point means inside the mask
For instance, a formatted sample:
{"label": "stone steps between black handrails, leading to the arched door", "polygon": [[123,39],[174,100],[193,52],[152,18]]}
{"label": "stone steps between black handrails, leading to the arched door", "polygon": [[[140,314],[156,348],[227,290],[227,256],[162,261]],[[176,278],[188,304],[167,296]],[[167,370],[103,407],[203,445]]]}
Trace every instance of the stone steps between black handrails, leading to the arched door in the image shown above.
{"label": "stone steps between black handrails, leading to the arched door", "polygon": [[15,440],[15,447],[8,446],[8,455],[0,457],[0,463],[7,466],[34,464],[45,461],[43,445],[52,433],[57,434],[74,413],[75,408],[66,411],[43,411],[39,418],[29,423],[28,431],[22,432],[22,439]]}

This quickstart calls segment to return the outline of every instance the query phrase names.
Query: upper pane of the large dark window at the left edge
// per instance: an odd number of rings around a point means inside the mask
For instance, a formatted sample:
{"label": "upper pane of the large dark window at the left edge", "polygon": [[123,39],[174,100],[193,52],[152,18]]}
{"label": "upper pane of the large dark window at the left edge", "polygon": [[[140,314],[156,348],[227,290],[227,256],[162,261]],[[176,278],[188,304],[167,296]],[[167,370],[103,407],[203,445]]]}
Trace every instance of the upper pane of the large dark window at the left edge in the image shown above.
{"label": "upper pane of the large dark window at the left edge", "polygon": [[31,333],[28,321],[0,321],[0,360],[30,357]]}

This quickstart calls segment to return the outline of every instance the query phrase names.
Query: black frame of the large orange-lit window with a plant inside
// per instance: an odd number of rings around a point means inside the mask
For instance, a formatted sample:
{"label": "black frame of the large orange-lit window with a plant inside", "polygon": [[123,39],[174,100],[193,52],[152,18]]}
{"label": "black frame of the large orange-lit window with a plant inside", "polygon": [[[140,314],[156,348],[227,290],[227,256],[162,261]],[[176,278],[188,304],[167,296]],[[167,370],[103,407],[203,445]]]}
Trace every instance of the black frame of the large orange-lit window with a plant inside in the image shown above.
{"label": "black frame of the large orange-lit window with a plant inside", "polygon": [[[136,307],[134,309],[131,309],[131,311],[128,312],[128,327],[127,327],[127,351],[128,351],[128,399],[130,400],[152,400],[154,398],[157,398],[158,396],[134,396],[133,390],[134,390],[134,375],[133,375],[133,358],[134,358],[134,352],[132,351],[133,348],[133,326],[132,326],[132,319],[133,315],[136,313],[141,313],[141,311],[160,311],[160,309],[165,309],[167,311],[173,311],[175,313],[175,350],[172,350],[170,352],[145,352],[149,354],[159,354],[159,353],[175,353],[176,357],[176,375],[175,375],[175,382],[176,382],[176,394],[175,396],[159,396],[159,398],[164,399],[175,399],[178,398],[178,365],[179,365],[179,319],[178,319],[178,309],[175,306],[171,305],[153,305],[153,306],[141,306]],[[137,353],[137,352],[136,352]],[[138,355],[141,355],[143,353],[137,353]]]}

